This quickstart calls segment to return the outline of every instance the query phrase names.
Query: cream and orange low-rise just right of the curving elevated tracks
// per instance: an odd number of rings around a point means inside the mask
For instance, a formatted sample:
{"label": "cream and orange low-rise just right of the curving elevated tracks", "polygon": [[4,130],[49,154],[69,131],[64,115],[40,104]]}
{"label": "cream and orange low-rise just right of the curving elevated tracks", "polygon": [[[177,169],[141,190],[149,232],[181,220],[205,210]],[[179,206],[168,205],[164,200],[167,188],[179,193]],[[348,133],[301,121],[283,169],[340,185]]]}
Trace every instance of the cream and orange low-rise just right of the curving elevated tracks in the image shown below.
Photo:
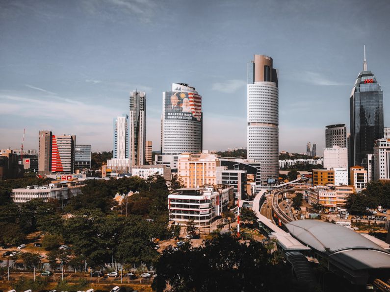
{"label": "cream and orange low-rise just right of the curving elevated tracks", "polygon": [[309,188],[308,202],[309,204],[321,204],[326,210],[336,210],[337,208],[345,208],[345,202],[348,195],[354,194],[353,186],[317,186]]}

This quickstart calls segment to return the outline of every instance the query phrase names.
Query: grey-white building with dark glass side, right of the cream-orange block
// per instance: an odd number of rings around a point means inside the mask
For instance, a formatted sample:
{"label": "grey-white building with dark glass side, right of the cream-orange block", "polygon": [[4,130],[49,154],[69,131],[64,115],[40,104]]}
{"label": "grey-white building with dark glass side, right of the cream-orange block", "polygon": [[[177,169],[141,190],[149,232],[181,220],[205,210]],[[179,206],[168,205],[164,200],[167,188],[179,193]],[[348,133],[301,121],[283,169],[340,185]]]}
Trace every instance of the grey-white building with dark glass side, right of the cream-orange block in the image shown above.
{"label": "grey-white building with dark glass side, right of the cream-orange block", "polygon": [[239,200],[246,197],[247,170],[229,170],[227,166],[217,166],[216,184],[233,186],[234,197]]}

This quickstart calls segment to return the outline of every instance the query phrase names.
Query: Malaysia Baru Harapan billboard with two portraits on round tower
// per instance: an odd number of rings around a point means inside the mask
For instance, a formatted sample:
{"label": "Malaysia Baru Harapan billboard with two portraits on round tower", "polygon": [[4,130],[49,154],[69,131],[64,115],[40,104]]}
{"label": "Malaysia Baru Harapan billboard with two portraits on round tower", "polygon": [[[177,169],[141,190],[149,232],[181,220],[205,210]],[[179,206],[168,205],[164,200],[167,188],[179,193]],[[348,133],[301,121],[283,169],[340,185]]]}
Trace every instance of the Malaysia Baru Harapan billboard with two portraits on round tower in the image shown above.
{"label": "Malaysia Baru Harapan billboard with two portraits on round tower", "polygon": [[192,92],[166,92],[165,119],[200,122],[202,119],[202,97]]}

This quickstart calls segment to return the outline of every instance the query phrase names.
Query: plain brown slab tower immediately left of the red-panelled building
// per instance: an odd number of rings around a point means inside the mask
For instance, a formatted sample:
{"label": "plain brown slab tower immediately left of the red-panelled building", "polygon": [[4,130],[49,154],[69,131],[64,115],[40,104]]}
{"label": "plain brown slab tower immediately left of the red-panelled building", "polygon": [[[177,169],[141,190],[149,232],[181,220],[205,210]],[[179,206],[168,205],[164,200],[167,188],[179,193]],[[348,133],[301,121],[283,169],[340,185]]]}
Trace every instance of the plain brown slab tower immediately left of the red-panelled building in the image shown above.
{"label": "plain brown slab tower immediately left of the red-panelled building", "polygon": [[38,173],[52,171],[52,131],[39,131]]}

